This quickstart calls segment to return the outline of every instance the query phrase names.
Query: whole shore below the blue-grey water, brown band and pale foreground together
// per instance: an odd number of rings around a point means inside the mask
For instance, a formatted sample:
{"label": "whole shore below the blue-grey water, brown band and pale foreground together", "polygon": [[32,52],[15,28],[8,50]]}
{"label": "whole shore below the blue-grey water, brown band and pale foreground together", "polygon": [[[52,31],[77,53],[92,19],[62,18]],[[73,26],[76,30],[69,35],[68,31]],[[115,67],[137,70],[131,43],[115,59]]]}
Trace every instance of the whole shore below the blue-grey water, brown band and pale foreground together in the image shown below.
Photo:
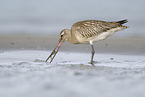
{"label": "whole shore below the blue-grey water, brown band and pale foreground together", "polygon": [[144,97],[145,39],[113,38],[90,45],[64,43],[44,62],[57,35],[0,36],[0,97]]}

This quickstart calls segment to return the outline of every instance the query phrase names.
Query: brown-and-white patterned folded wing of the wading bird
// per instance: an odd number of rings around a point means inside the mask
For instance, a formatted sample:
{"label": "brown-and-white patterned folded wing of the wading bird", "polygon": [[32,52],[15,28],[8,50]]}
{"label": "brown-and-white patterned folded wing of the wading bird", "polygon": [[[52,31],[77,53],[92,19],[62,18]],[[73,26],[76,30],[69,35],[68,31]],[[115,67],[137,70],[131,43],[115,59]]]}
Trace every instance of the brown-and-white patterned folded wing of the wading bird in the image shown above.
{"label": "brown-and-white patterned folded wing of the wading bird", "polygon": [[117,22],[105,22],[105,21],[97,21],[97,20],[86,20],[75,23],[71,30],[79,32],[83,37],[89,38],[95,35],[99,35],[100,33],[106,32],[112,28],[116,28],[121,26]]}

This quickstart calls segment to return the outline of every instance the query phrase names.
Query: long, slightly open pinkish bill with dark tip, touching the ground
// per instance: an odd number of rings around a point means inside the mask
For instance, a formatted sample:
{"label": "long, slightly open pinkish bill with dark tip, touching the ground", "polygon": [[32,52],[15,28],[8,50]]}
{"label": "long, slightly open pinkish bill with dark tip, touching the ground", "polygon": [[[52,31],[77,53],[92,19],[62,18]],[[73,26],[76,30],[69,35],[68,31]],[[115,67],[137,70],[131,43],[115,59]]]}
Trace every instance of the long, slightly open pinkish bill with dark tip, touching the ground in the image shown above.
{"label": "long, slightly open pinkish bill with dark tip, touching the ground", "polygon": [[50,61],[49,61],[50,63],[53,61],[53,59],[54,59],[55,55],[57,54],[62,43],[63,43],[63,41],[61,39],[59,39],[59,42],[56,45],[55,49],[51,52],[50,56],[46,59],[45,62],[47,62],[49,59],[50,59]]}

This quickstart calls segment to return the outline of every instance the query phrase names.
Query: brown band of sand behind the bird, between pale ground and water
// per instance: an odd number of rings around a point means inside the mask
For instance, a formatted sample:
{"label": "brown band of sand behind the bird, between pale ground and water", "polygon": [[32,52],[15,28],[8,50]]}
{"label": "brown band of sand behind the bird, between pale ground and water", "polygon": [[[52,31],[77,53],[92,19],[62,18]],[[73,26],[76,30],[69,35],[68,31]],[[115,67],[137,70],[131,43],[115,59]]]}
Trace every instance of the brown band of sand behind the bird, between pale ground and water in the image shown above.
{"label": "brown band of sand behind the bird, between pale ground and water", "polygon": [[[53,50],[58,35],[0,35],[0,50]],[[145,38],[116,38],[94,43],[96,53],[145,55]],[[91,52],[88,44],[64,42],[60,51]]]}

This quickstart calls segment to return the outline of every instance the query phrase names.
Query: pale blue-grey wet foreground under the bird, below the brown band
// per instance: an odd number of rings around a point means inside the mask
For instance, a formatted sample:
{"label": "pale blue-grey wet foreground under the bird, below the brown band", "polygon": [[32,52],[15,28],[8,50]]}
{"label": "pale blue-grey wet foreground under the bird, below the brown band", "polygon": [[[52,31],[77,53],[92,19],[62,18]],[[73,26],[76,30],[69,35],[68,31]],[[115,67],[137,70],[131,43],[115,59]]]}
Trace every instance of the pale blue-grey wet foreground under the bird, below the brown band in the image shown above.
{"label": "pale blue-grey wet foreground under the bird, below the brown band", "polygon": [[[144,97],[145,56],[47,51],[0,53],[1,97]],[[82,57],[83,56],[83,57]]]}

